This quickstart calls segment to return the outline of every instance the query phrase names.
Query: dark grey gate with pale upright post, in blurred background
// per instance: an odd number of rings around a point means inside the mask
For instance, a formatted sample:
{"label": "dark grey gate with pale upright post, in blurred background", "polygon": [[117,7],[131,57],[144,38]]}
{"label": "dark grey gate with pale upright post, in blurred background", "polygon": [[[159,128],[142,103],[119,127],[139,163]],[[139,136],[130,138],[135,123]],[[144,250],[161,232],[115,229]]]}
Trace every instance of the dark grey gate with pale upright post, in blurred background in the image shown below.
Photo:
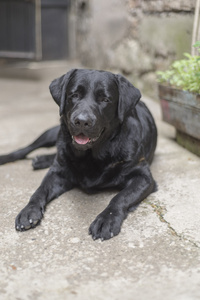
{"label": "dark grey gate with pale upright post, in blurred background", "polygon": [[0,0],[0,57],[68,57],[69,0]]}

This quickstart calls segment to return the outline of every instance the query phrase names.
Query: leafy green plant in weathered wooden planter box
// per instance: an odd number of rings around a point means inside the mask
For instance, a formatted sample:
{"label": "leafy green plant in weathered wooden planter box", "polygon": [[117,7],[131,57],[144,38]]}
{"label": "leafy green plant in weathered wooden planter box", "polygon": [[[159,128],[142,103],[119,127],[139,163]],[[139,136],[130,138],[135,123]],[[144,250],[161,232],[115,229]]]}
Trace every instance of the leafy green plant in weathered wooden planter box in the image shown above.
{"label": "leafy green plant in weathered wooden planter box", "polygon": [[[200,41],[194,47],[200,48]],[[176,128],[177,142],[200,156],[200,56],[185,53],[157,72],[163,120]]]}

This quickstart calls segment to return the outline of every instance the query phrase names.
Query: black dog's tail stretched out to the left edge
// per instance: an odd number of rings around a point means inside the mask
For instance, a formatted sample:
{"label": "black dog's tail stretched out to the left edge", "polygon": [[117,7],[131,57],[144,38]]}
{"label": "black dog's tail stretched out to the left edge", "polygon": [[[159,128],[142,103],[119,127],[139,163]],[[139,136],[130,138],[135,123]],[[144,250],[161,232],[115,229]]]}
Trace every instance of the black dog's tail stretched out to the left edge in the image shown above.
{"label": "black dog's tail stretched out to the left edge", "polygon": [[13,151],[6,155],[0,155],[0,165],[6,164],[8,162],[13,162],[19,159],[24,159],[27,156],[27,154],[38,148],[49,148],[55,146],[59,130],[60,126],[48,129],[27,147]]}

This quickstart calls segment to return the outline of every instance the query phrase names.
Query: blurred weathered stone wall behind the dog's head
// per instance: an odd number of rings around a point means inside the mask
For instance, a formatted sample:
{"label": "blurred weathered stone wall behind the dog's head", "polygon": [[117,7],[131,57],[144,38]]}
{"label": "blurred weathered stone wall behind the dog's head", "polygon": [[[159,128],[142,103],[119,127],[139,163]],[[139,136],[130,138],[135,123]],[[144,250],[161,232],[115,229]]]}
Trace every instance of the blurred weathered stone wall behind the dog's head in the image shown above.
{"label": "blurred weathered stone wall behind the dog's head", "polygon": [[196,0],[77,0],[77,55],[155,95],[155,71],[191,51]]}

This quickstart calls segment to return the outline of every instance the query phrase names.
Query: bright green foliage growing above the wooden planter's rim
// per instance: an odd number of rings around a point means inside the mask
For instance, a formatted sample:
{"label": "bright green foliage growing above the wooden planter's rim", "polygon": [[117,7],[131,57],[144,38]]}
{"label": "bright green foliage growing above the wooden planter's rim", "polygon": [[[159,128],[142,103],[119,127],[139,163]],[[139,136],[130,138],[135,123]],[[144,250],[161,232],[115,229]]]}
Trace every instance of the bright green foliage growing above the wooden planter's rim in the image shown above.
{"label": "bright green foliage growing above the wooden planter's rim", "polygon": [[[194,44],[200,52],[200,41]],[[158,82],[200,94],[200,56],[184,53],[186,59],[175,61],[169,70],[157,72]]]}

